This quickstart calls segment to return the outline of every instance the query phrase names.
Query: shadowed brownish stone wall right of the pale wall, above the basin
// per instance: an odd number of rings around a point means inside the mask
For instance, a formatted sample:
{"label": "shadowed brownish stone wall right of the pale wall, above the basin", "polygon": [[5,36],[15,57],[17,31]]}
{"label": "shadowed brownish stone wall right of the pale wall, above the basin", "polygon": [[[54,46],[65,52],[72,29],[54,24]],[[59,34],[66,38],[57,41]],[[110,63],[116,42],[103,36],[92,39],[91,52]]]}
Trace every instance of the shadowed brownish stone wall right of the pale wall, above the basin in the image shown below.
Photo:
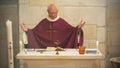
{"label": "shadowed brownish stone wall right of the pale wall, above the basin", "polygon": [[120,0],[107,0],[107,68],[113,68],[110,58],[120,57]]}

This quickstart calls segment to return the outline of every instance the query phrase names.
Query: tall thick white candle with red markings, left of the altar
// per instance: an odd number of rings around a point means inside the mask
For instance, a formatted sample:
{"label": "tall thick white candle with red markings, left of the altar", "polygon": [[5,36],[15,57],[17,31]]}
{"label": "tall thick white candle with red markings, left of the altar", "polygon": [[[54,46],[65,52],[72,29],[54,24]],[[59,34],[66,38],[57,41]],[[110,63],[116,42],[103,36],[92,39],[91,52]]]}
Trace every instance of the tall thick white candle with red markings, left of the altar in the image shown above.
{"label": "tall thick white candle with red markings, left of the altar", "polygon": [[8,60],[9,60],[8,64],[9,64],[9,68],[14,68],[13,41],[12,41],[12,22],[10,20],[7,20],[6,28],[7,28],[7,41],[8,41]]}

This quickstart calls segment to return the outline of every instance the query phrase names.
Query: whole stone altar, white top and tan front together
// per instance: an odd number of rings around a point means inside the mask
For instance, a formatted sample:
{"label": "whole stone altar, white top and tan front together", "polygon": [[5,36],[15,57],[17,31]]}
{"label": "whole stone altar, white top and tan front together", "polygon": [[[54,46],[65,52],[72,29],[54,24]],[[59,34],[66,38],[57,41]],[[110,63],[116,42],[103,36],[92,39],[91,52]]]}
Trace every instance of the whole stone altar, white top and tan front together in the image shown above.
{"label": "whole stone altar, white top and tan front together", "polygon": [[20,68],[101,68],[102,53],[97,49],[86,49],[79,54],[76,49],[65,49],[56,55],[55,50],[23,49],[16,56]]}

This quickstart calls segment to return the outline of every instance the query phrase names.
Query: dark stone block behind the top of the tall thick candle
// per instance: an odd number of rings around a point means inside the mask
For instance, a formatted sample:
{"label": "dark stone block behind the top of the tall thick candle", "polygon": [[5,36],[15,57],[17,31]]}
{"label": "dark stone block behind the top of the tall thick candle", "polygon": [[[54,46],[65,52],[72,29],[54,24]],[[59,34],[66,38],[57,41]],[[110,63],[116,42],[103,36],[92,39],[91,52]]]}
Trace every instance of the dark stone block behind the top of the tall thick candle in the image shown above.
{"label": "dark stone block behind the top of the tall thick candle", "polygon": [[0,34],[5,35],[6,32],[6,21],[9,19],[10,21],[12,21],[12,29],[13,29],[13,34],[18,34],[18,17],[16,15],[12,15],[12,14],[6,14],[6,15],[1,15],[0,16],[0,31],[2,31]]}

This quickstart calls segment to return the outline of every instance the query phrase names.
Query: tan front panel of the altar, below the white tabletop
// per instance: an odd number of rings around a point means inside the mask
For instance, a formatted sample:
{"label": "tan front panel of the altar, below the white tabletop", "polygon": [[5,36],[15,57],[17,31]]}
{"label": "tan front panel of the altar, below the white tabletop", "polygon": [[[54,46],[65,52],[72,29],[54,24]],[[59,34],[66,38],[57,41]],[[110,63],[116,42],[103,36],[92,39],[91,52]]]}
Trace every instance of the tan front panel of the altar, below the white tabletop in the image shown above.
{"label": "tan front panel of the altar, below the white tabletop", "polygon": [[99,60],[24,60],[24,68],[100,68]]}

